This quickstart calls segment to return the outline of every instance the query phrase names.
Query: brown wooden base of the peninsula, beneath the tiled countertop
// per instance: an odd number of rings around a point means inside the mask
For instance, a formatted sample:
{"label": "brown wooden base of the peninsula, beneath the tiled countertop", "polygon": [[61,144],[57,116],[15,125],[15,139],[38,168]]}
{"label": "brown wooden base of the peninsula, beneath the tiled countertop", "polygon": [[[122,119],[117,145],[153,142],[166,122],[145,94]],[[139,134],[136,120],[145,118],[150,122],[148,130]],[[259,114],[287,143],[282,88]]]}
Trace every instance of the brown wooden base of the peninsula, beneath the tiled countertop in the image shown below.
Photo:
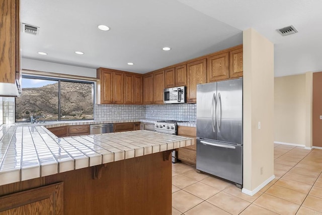
{"label": "brown wooden base of the peninsula, beneath the tiled countertop", "polygon": [[[15,207],[15,202],[31,203],[42,200],[42,195],[35,192],[30,193],[33,191],[30,189],[35,188],[34,185],[36,184],[39,184],[38,186],[50,184],[56,186],[55,183],[63,182],[63,192],[61,189],[60,194],[55,194],[57,196],[56,205],[59,201],[63,212],[58,210],[56,213],[50,213],[48,212],[50,210],[47,210],[43,213],[23,212],[19,214],[171,215],[172,163],[171,159],[165,160],[165,155],[169,157],[170,152],[153,153],[2,185],[0,186],[0,196],[2,196],[0,197],[0,211],[3,211],[2,208],[8,210]],[[97,173],[96,176],[100,177],[94,177],[94,173]],[[45,187],[36,189],[42,188]],[[10,203],[4,200],[7,195],[15,195],[13,193],[23,190],[26,190],[26,195],[21,197],[17,195],[16,198],[11,198]],[[63,201],[59,200],[61,195],[63,195]],[[33,200],[30,201],[29,199]],[[5,207],[4,205],[8,206]]]}

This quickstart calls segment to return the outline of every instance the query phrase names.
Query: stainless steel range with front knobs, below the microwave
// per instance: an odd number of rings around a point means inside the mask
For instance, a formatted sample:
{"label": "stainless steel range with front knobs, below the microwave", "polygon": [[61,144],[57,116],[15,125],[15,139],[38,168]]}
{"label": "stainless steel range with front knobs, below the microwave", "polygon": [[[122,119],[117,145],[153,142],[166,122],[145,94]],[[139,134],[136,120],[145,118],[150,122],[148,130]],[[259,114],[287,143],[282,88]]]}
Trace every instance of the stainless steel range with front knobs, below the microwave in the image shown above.
{"label": "stainless steel range with front knobs, below the microwave", "polygon": [[[184,122],[178,120],[162,120],[154,122],[154,131],[178,135],[177,123]],[[177,162],[177,151],[172,152],[172,163]]]}

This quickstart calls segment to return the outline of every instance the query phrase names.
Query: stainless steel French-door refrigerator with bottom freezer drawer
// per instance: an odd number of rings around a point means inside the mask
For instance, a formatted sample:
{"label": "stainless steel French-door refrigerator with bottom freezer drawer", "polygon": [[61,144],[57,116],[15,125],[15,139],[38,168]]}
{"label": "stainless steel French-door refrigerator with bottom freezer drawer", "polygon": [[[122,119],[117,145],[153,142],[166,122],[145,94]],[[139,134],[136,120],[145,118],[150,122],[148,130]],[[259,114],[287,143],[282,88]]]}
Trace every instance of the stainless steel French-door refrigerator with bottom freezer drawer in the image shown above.
{"label": "stainless steel French-door refrigerator with bottom freezer drawer", "polygon": [[197,170],[243,185],[243,79],[197,85]]}

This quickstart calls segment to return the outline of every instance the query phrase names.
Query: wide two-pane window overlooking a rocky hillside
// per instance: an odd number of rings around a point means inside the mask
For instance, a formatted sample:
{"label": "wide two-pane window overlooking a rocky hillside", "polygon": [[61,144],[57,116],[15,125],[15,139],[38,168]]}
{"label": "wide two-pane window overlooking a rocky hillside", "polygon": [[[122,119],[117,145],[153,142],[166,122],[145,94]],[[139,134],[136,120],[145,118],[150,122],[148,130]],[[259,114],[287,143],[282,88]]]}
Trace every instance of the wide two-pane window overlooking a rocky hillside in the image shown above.
{"label": "wide two-pane window overlooking a rocky hillside", "polygon": [[16,122],[30,116],[50,120],[94,119],[94,82],[23,76],[16,98]]}

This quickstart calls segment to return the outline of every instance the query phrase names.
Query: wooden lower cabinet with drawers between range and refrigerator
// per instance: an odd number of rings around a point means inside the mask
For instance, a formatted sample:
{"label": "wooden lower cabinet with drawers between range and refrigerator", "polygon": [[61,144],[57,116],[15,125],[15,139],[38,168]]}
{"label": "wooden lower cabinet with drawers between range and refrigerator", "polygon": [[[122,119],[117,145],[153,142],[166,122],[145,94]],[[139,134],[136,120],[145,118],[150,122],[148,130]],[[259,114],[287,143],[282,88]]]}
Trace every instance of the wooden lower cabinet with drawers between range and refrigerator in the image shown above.
{"label": "wooden lower cabinet with drawers between range and refrigerator", "polygon": [[178,149],[178,159],[196,165],[196,127],[178,126],[178,135],[194,138],[193,145]]}

